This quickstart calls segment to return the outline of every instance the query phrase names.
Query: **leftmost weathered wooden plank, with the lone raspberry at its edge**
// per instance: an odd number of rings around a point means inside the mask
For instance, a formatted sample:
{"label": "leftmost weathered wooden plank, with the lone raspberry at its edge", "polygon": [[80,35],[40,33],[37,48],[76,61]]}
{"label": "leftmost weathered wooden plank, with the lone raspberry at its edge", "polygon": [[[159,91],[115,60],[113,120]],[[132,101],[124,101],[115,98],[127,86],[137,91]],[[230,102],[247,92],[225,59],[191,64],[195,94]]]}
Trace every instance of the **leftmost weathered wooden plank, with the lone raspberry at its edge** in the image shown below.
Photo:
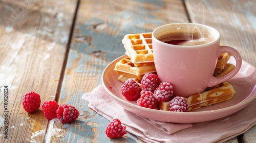
{"label": "leftmost weathered wooden plank, with the lone raspberry at its edge", "polygon": [[[22,97],[35,91],[41,103],[55,99],[75,5],[58,0],[0,2],[0,142],[44,142],[48,120],[41,108],[27,113]],[[4,85],[9,89],[7,110]]]}

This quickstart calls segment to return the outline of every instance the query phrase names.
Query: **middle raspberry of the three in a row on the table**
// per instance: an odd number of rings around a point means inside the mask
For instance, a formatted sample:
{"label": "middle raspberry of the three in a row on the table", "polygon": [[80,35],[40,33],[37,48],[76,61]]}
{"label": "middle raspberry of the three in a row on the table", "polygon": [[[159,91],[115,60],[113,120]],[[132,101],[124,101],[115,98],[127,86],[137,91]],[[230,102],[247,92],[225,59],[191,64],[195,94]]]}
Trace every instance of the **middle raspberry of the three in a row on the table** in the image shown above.
{"label": "middle raspberry of the three in a row on the table", "polygon": [[42,112],[44,113],[44,116],[47,118],[47,120],[51,120],[55,117],[57,117],[57,109],[59,105],[56,101],[45,101],[42,103]]}

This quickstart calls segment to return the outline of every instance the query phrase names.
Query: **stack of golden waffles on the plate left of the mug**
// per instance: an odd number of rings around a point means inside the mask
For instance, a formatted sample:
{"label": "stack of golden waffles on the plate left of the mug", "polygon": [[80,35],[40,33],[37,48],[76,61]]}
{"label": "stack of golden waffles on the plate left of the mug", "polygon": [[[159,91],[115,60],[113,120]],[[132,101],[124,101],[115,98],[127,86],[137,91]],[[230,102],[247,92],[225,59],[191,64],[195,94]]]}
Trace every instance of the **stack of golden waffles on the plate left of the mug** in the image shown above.
{"label": "stack of golden waffles on the plate left of the mug", "polygon": [[152,50],[152,33],[127,34],[122,39],[127,57],[116,63],[118,80],[141,81],[147,73],[156,73]]}

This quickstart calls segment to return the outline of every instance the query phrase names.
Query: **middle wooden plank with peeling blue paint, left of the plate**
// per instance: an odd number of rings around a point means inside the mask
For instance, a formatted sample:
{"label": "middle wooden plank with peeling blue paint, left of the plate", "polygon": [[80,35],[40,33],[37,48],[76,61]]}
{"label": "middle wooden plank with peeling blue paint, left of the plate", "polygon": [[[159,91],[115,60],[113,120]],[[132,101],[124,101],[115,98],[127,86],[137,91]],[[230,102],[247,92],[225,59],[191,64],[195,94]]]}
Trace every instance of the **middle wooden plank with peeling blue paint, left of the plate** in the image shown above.
{"label": "middle wooden plank with peeling blue paint, left of the plate", "polygon": [[[125,34],[151,32],[169,22],[188,21],[182,1],[81,1],[59,103],[71,104],[84,115],[75,124],[54,124],[67,128],[62,142],[141,142],[126,134],[110,140],[104,130],[109,121],[88,108],[84,93],[101,84],[106,65],[124,55]],[[114,110],[114,109],[113,109]]]}

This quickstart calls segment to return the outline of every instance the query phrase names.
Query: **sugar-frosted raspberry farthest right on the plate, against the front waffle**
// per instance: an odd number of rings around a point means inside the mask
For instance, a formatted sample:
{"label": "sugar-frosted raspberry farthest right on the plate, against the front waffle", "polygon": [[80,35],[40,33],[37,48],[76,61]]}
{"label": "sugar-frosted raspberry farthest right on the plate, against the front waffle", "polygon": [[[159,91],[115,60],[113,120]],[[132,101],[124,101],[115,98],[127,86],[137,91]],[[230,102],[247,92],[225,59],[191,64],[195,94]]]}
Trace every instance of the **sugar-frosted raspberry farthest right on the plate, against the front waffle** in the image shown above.
{"label": "sugar-frosted raspberry farthest right on the plate, against the front waffle", "polygon": [[188,103],[187,100],[183,97],[175,97],[170,101],[169,106],[170,111],[175,112],[186,112],[188,111]]}

